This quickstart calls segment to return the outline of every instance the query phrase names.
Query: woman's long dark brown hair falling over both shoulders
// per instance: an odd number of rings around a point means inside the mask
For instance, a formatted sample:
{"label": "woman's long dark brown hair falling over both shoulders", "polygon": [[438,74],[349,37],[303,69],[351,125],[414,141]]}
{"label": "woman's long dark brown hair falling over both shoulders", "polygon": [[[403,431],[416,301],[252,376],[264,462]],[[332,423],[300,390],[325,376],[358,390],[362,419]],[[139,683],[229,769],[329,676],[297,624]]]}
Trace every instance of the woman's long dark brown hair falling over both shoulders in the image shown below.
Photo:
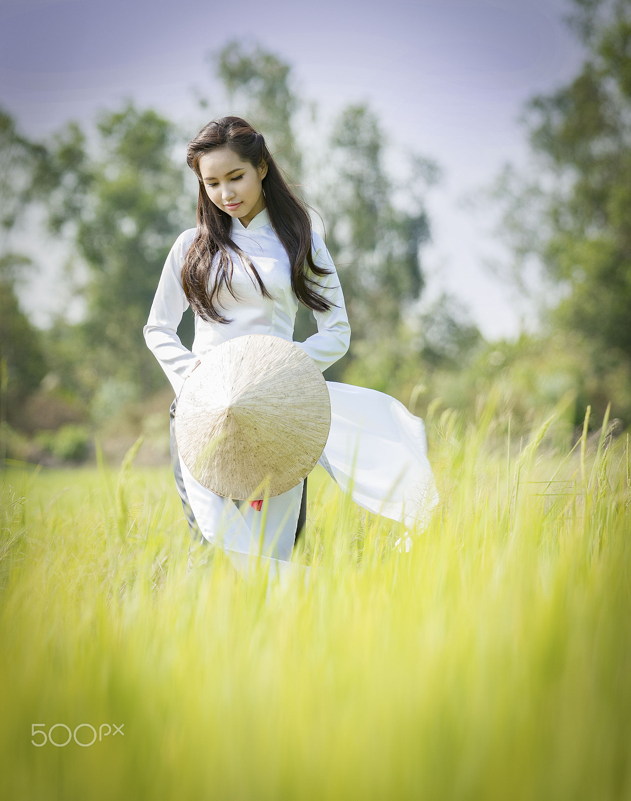
{"label": "woman's long dark brown hair falling over both shoulders", "polygon": [[[182,283],[187,300],[194,312],[207,322],[229,323],[217,308],[219,290],[225,286],[232,291],[232,260],[228,248],[237,253],[247,264],[259,284],[261,294],[271,297],[251,259],[231,239],[231,215],[215,206],[208,197],[199,172],[199,159],[216,147],[230,147],[243,161],[255,169],[263,161],[267,163],[267,175],[263,178],[263,195],[271,227],[283,244],[291,265],[291,288],[305,306],[315,312],[326,312],[331,304],[315,291],[320,287],[307,274],[327,276],[327,268],[318,267],[311,256],[311,219],[307,207],[293,194],[283,178],[263,135],[255,131],[240,117],[213,119],[188,143],[187,164],[199,180],[197,200],[197,232],[187,252],[182,268]],[[219,253],[213,268],[212,262]],[[212,277],[212,281],[209,280]],[[220,305],[220,304],[219,304]]]}

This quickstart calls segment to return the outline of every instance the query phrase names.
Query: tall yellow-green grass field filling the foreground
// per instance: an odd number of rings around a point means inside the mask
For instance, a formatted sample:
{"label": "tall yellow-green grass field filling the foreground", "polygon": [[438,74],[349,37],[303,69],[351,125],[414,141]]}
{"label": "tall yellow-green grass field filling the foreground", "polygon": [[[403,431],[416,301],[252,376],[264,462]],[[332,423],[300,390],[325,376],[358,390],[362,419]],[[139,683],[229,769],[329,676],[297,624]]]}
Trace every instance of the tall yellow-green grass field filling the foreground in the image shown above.
{"label": "tall yellow-green grass field filling the foreground", "polygon": [[2,798],[631,798],[628,439],[495,422],[432,425],[409,553],[314,474],[311,581],[269,589],[187,570],[168,469],[8,469]]}

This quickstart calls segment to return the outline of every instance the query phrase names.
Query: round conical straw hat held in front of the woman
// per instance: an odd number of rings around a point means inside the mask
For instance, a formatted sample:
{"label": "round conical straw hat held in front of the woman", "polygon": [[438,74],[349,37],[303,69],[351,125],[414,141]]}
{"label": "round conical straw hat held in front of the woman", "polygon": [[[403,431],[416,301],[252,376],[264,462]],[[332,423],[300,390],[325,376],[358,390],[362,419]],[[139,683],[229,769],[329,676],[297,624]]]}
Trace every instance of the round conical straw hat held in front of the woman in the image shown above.
{"label": "round conical straw hat held in front of the woman", "polygon": [[235,500],[299,484],[320,459],[330,427],[328,388],[315,361],[267,334],[213,348],[175,406],[184,464],[207,489]]}

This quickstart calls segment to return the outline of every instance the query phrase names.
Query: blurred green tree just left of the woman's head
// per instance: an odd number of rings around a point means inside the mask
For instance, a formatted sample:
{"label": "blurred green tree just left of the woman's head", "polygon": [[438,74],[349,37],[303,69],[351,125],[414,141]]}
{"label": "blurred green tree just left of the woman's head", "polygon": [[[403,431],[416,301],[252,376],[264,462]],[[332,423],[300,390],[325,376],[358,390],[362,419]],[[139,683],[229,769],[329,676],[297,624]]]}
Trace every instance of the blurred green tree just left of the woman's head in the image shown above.
{"label": "blurred green tree just left of the woman's head", "polygon": [[[186,165],[173,159],[179,133],[155,111],[128,103],[103,112],[96,134],[88,147],[70,125],[51,145],[57,186],[49,196],[50,224],[70,235],[89,271],[82,288],[86,317],[74,327],[86,360],[128,394],[130,388],[145,394],[163,385],[163,373],[144,343],[143,325],[171,245],[195,225],[194,198],[184,192]],[[54,332],[68,339],[61,322]]]}

